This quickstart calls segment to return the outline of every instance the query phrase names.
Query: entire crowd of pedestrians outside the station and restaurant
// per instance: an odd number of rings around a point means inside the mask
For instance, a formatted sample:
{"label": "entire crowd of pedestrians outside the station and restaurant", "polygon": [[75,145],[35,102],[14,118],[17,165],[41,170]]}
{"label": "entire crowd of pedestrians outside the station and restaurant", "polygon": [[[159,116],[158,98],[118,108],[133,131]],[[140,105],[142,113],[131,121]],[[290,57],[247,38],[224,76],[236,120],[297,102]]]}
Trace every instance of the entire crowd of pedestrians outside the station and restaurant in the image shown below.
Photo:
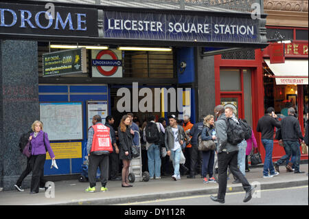
{"label": "entire crowd of pedestrians outside the station and restaurant", "polygon": [[[128,178],[135,153],[133,146],[141,146],[143,150],[139,158],[143,160],[143,168],[148,170],[150,179],[160,179],[161,175],[170,174],[173,181],[179,181],[185,174],[187,178],[201,174],[203,183],[219,184],[218,196],[211,196],[211,200],[225,203],[227,172],[230,171],[235,180],[233,183],[242,183],[246,191],[244,202],[251,199],[253,186],[247,181],[246,172],[250,171],[249,157],[258,150],[258,143],[253,128],[245,119],[238,119],[233,108],[218,105],[214,108],[214,115],[202,115],[196,124],[192,124],[189,115],[184,115],[183,120],[175,115],[170,115],[168,120],[149,115],[147,121],[141,124],[133,113],[124,115],[119,127],[114,129],[114,124],[112,115],[106,117],[105,124],[102,124],[100,115],[93,117],[93,126],[89,128],[87,138],[90,185],[85,192],[96,191],[98,168],[101,192],[107,190],[108,180],[122,181],[122,187],[133,187]],[[304,137],[294,108],[288,108],[288,116],[279,121],[274,108],[270,107],[259,119],[256,132],[261,132],[265,150],[263,178],[277,176],[279,165],[283,163],[288,172],[304,173],[299,170],[299,145],[306,143],[308,147],[308,119]],[[275,163],[272,157],[274,134],[286,152]],[[32,172],[31,194],[47,189],[43,177],[46,152],[53,160],[56,157],[47,133],[43,132],[43,123],[34,122],[32,130],[21,137],[19,144],[21,152],[29,155],[27,167],[14,186],[23,191],[21,183]],[[214,177],[215,172],[218,178]]]}

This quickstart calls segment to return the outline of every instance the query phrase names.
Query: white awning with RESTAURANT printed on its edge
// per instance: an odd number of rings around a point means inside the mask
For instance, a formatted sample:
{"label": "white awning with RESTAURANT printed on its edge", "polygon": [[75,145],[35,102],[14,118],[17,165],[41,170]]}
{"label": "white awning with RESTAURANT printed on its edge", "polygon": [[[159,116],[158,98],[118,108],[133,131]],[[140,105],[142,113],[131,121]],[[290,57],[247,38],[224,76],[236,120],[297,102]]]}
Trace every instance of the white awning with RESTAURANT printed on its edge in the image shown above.
{"label": "white awning with RESTAURANT printed on its edge", "polygon": [[273,71],[276,84],[308,84],[308,60],[286,60],[279,64],[264,60]]}

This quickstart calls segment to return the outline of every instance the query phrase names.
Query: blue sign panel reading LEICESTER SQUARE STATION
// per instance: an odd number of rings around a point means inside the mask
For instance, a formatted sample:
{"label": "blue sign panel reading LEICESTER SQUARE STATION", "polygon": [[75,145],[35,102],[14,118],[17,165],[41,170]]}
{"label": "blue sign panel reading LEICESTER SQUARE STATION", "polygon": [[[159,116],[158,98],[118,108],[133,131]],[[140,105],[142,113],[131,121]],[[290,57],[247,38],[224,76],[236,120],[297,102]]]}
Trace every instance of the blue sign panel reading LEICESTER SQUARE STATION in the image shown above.
{"label": "blue sign panel reading LEICESTER SQUARE STATION", "polygon": [[104,38],[259,43],[259,20],[246,17],[104,12]]}

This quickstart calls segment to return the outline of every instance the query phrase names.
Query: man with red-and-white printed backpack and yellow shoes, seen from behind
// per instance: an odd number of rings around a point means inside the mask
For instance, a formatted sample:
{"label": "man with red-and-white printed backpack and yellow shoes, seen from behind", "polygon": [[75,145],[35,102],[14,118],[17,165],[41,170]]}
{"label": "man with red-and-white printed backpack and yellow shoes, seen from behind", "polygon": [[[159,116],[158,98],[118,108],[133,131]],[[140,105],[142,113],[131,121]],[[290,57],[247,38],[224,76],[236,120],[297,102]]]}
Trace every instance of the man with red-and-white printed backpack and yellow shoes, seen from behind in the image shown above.
{"label": "man with red-and-white printed backpack and yellow shoes, seen from behind", "polygon": [[88,176],[90,186],[85,192],[95,192],[98,167],[101,172],[101,192],[107,190],[108,155],[113,152],[110,129],[102,124],[100,115],[93,117],[93,126],[88,130],[87,152],[89,159]]}

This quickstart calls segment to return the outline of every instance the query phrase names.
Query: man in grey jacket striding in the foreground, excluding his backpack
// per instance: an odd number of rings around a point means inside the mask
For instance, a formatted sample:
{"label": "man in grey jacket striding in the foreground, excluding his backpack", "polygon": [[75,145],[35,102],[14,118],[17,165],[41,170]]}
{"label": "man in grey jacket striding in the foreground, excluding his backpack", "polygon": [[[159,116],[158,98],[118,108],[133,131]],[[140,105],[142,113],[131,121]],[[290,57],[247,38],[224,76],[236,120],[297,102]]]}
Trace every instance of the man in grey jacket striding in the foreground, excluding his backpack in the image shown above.
{"label": "man in grey jacket striding in the foreground, excluding his backpack", "polygon": [[[229,109],[227,109],[229,111]],[[218,139],[218,196],[210,196],[211,200],[218,203],[225,203],[225,193],[227,191],[227,167],[230,167],[231,173],[239,179],[242,187],[246,191],[244,203],[252,198],[253,186],[249,184],[247,178],[238,169],[238,146],[227,142],[227,119],[225,117],[225,108],[218,105],[214,108],[214,113],[218,118],[216,126],[216,137]]]}

